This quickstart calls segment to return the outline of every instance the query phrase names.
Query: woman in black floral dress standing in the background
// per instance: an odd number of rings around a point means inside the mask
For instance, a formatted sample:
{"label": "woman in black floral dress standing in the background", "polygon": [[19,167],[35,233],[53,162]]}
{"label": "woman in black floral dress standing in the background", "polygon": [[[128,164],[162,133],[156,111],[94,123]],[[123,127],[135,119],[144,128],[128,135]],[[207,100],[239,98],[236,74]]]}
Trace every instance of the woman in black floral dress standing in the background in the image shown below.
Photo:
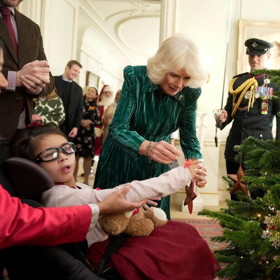
{"label": "woman in black floral dress standing in the background", "polygon": [[94,157],[94,141],[95,131],[94,128],[100,125],[100,111],[97,106],[98,92],[94,87],[88,88],[84,95],[84,110],[83,119],[81,121],[81,127],[76,136],[76,168],[74,172],[75,179],[77,181],[77,173],[79,166],[79,159],[83,157],[83,169],[84,169],[84,184],[89,185],[88,176],[90,174],[91,159]]}

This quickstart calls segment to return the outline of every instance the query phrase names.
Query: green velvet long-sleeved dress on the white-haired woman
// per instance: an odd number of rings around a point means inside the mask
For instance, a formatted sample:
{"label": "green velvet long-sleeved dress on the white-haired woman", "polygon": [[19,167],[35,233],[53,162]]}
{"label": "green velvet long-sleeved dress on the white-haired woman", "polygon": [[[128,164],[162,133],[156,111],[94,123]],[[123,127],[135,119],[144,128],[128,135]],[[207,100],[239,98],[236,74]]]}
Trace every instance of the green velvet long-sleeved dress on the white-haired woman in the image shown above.
{"label": "green velvet long-sleeved dress on the white-haired woman", "polygon": [[[201,158],[196,136],[200,94],[200,88],[185,87],[174,96],[166,95],[149,80],[146,66],[125,67],[120,99],[100,153],[94,188],[113,188],[168,171],[168,164],[149,163],[148,157],[139,155],[138,150],[144,140],[170,143],[170,134],[178,128],[185,158]],[[170,219],[170,196],[163,197],[158,207]]]}

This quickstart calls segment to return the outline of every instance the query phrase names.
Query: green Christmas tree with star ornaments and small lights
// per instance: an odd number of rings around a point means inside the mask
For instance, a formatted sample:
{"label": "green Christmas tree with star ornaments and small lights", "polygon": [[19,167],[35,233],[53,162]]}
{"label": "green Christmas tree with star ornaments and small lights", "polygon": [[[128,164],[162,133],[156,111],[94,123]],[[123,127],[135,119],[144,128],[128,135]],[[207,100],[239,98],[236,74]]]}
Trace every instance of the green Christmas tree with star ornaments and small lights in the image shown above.
{"label": "green Christmas tree with star ornaments and small lights", "polygon": [[[263,73],[269,75],[271,83],[280,85],[280,70],[254,71]],[[280,102],[280,92],[274,92],[272,99]],[[237,176],[230,176],[233,181],[226,176],[223,180],[230,192],[237,190],[238,201],[226,200],[227,207],[220,211],[204,209],[198,213],[219,220],[223,234],[212,237],[212,241],[229,244],[214,252],[218,262],[228,263],[218,276],[230,280],[280,279],[280,140],[248,137],[234,148],[246,176],[239,169]],[[251,199],[246,195],[247,187],[266,193],[263,198]]]}

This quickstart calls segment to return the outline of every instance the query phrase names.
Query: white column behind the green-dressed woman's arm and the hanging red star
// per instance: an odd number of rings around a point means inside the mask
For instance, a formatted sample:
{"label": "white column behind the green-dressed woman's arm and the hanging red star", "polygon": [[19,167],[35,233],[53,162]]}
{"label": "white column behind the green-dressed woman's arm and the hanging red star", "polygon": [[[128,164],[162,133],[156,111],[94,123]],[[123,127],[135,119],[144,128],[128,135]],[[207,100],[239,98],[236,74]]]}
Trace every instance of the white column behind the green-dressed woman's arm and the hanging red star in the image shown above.
{"label": "white column behind the green-dressed woman's arm and the hanging red star", "polygon": [[[203,150],[204,137],[206,135],[206,128],[208,127],[208,118],[210,113],[203,113],[202,111],[197,112],[197,138],[200,143],[200,151]],[[203,209],[203,200],[199,194],[199,188],[197,185],[194,187],[194,192],[197,194],[197,197],[192,202],[192,211],[198,212]],[[185,200],[184,200],[185,201]],[[188,212],[188,205],[184,206],[184,201],[182,202],[182,212]]]}

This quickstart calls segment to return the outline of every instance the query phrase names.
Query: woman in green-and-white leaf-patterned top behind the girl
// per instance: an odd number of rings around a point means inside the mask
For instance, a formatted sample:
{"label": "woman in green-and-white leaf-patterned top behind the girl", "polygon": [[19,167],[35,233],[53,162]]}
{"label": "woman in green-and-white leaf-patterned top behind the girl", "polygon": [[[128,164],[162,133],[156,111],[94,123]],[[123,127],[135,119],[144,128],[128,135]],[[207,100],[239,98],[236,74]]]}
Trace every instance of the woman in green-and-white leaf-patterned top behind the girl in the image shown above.
{"label": "woman in green-and-white leaf-patterned top behind the girl", "polygon": [[42,121],[59,129],[65,120],[65,111],[61,98],[54,89],[50,95],[37,98],[33,109],[32,121]]}

